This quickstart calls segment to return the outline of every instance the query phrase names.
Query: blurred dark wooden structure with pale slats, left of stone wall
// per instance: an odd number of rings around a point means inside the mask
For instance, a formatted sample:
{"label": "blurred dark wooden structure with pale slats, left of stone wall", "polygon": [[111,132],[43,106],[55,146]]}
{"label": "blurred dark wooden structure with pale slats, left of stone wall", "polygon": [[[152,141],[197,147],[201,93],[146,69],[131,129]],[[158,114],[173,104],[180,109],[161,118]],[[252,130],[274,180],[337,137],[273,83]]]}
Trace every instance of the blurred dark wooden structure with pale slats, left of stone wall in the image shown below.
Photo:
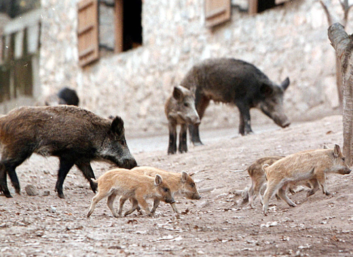
{"label": "blurred dark wooden structure with pale slats, left of stone wall", "polygon": [[[39,86],[40,1],[9,2],[0,12],[9,17],[0,28],[0,103],[32,98]],[[13,17],[13,19],[10,19]]]}

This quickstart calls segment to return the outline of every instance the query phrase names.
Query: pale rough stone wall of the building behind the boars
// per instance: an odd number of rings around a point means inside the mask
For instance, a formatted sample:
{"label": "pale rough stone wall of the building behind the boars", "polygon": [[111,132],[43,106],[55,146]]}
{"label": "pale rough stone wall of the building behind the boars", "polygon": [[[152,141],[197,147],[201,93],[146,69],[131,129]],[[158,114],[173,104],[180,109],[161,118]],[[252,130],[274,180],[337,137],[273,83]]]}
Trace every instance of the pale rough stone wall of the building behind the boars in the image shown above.
{"label": "pale rough stone wall of the building behind the boars", "polygon": [[[203,0],[143,2],[143,46],[101,57],[81,69],[77,1],[42,0],[43,95],[69,86],[78,91],[81,106],[104,116],[122,116],[126,130],[166,133],[164,102],[172,87],[205,58],[234,57],[253,63],[275,82],[290,77],[285,95],[290,119],[335,112],[334,50],[317,1],[291,1],[255,16],[233,6],[231,21],[213,29],[204,26]],[[340,13],[338,0],[333,3]],[[272,122],[257,111],[252,111],[252,120]],[[237,124],[235,108],[211,104],[201,130]]]}

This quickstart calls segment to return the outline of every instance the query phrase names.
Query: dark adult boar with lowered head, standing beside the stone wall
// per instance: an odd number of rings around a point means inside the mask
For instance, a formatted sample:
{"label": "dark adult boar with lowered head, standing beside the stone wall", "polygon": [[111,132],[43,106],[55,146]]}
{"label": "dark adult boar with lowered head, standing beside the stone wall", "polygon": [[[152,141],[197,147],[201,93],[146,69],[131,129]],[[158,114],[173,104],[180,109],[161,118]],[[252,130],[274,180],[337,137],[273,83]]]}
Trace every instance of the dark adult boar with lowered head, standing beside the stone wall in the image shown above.
{"label": "dark adult boar with lowered head, standing beside the stone wall", "polygon": [[[195,92],[196,110],[202,119],[210,100],[236,105],[240,112],[239,133],[252,133],[250,108],[258,108],[273,121],[290,124],[283,111],[283,95],[289,78],[275,84],[254,65],[232,58],[207,59],[194,66],[181,85]],[[194,145],[200,145],[199,124],[190,124]]]}

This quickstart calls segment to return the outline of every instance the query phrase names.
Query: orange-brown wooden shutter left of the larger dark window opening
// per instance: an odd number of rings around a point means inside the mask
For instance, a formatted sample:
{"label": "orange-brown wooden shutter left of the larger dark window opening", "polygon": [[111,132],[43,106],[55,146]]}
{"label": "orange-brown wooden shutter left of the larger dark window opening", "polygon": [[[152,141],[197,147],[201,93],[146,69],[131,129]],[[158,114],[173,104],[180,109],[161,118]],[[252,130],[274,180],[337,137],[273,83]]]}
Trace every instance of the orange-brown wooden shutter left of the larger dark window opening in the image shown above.
{"label": "orange-brown wooden shutter left of the larger dark window opening", "polygon": [[78,3],[79,63],[84,67],[99,58],[98,1],[82,0]]}

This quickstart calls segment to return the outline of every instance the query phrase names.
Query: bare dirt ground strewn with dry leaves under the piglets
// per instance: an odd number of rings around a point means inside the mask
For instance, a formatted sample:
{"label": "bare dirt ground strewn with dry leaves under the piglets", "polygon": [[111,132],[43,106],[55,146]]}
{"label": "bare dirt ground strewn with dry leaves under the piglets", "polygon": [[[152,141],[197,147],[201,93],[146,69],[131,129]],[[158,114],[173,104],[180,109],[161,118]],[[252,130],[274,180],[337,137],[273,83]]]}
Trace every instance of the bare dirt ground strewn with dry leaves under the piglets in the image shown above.
{"label": "bare dirt ground strewn with dry leaves under the piglets", "polygon": [[[94,194],[81,172],[70,171],[66,198],[59,199],[53,189],[58,160],[33,155],[17,169],[22,194],[0,197],[0,256],[352,256],[353,175],[328,175],[332,196],[319,190],[306,199],[308,189],[290,195],[295,208],[272,199],[268,216],[259,201],[251,209],[234,194],[250,180],[246,172],[232,170],[262,156],[334,143],[343,144],[341,116],[189,145],[185,154],[168,156],[166,149],[134,154],[139,165],[194,172],[197,187],[206,188],[200,200],[177,199],[180,219],[163,203],[152,218],[114,218],[105,201],[87,219]],[[109,166],[95,163],[93,169],[98,177]],[[40,195],[27,196],[27,184]],[[47,190],[50,195],[44,196]]]}

